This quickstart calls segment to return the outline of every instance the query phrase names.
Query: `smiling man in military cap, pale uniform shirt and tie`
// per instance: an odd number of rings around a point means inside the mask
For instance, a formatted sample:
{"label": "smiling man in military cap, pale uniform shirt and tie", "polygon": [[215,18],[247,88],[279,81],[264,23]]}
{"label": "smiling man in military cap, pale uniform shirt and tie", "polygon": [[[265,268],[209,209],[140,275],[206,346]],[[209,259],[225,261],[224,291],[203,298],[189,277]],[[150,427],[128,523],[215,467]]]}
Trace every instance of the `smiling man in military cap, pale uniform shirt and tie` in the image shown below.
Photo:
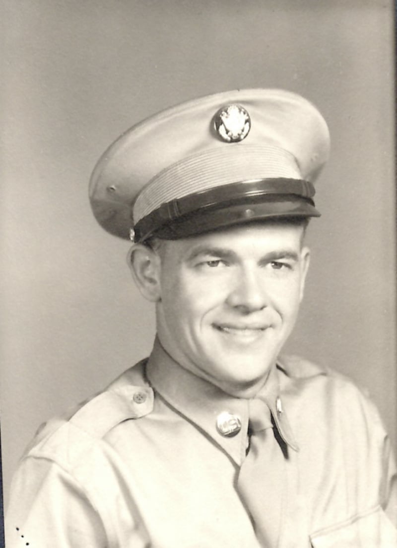
{"label": "smiling man in military cap, pale uniform shirt and tie", "polygon": [[312,104],[257,89],[166,110],[105,152],[91,205],[134,240],[157,337],[148,359],[39,431],[7,546],[397,546],[376,409],[332,370],[279,357],[328,151]]}

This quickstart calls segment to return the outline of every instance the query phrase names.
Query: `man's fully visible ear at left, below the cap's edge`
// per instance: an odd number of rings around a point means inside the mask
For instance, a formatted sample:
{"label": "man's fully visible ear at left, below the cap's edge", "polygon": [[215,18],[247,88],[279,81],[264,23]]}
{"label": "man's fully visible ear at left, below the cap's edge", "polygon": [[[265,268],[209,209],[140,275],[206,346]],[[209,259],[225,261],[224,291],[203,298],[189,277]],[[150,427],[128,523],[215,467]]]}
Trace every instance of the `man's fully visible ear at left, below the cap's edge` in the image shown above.
{"label": "man's fully visible ear at left, below the cap's edge", "polygon": [[161,259],[158,253],[138,243],[131,248],[128,258],[131,273],[141,294],[149,301],[158,302],[161,298]]}

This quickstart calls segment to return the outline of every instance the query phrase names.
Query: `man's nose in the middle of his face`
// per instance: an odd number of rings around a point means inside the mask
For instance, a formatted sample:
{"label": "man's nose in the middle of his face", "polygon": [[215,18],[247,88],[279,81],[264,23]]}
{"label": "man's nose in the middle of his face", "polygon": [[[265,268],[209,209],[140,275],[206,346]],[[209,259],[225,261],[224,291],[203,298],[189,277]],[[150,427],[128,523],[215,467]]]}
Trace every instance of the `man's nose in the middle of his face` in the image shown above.
{"label": "man's nose in the middle of his face", "polygon": [[260,274],[252,270],[240,271],[227,304],[244,314],[264,309],[268,305],[268,295]]}

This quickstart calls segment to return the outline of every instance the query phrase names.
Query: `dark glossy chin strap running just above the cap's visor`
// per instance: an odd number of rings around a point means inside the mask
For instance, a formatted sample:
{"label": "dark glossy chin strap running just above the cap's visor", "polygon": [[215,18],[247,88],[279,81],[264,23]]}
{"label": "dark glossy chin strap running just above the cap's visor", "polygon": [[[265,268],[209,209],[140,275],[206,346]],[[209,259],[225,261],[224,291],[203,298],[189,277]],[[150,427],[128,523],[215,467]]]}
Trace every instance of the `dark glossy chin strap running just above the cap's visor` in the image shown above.
{"label": "dark glossy chin strap running just above the cap's visor", "polygon": [[[302,179],[257,179],[217,186],[207,191],[195,192],[163,203],[137,222],[134,226],[134,239],[135,242],[141,242],[156,233],[160,227],[194,212],[202,213],[205,210],[217,210],[228,205],[244,203],[249,205],[267,200],[274,202],[277,196],[280,196],[281,200],[289,197],[291,202],[294,201],[294,197],[299,202],[302,202],[303,199],[314,208],[312,199],[314,194],[312,183]],[[280,213],[275,210],[274,215],[277,216],[277,214]],[[288,215],[287,212],[283,214]],[[294,208],[290,215],[294,215]]]}

